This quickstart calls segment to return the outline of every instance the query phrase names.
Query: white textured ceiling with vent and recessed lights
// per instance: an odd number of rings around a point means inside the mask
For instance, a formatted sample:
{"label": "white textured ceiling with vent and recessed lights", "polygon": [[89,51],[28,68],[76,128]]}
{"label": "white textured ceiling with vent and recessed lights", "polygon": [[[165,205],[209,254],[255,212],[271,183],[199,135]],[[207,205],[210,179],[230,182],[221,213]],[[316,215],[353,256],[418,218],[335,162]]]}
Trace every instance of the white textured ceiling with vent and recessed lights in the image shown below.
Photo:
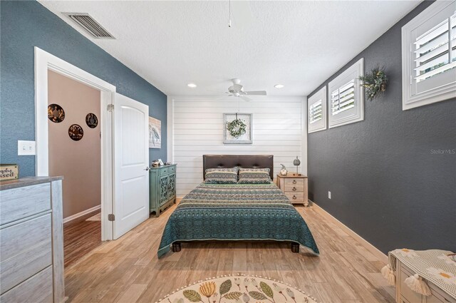
{"label": "white textured ceiling with vent and recessed lights", "polygon": [[[306,96],[419,1],[40,1],[167,95]],[[63,12],[88,13],[96,40]],[[187,83],[197,88],[188,88]],[[284,84],[280,90],[274,84]]]}

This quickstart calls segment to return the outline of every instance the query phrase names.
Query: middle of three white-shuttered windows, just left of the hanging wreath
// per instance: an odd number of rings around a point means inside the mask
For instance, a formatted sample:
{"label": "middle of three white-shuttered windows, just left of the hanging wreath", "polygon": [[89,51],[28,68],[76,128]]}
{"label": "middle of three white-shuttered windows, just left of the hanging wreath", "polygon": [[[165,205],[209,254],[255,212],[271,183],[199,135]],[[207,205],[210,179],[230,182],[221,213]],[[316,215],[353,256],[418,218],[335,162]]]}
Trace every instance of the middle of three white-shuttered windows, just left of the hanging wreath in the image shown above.
{"label": "middle of three white-shuttered windows, just left of the hanging wreath", "polygon": [[363,58],[328,84],[329,128],[364,120]]}

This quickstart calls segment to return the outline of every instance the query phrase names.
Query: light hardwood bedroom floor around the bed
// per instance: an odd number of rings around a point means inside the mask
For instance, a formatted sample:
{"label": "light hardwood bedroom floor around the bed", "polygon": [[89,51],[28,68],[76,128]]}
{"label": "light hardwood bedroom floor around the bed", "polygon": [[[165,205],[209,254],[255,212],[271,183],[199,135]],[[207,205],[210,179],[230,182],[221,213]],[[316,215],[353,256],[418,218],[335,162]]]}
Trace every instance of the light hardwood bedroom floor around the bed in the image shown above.
{"label": "light hardwood bedroom floor around the bed", "polygon": [[[68,302],[155,302],[199,279],[257,274],[300,287],[318,302],[394,302],[380,274],[384,263],[312,207],[296,206],[321,252],[315,257],[286,243],[182,243],[157,259],[162,229],[175,205],[119,240],[105,242],[65,269]],[[279,303],[279,302],[277,302]]]}

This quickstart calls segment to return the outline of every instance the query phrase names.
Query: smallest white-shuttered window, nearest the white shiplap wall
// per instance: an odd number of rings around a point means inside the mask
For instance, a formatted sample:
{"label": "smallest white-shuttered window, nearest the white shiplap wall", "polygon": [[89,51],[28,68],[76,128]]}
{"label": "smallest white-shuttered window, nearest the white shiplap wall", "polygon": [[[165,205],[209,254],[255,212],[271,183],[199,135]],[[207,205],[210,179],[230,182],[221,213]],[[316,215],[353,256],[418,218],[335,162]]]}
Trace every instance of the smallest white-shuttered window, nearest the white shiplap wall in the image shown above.
{"label": "smallest white-shuttered window, nearest the white shiplap wall", "polygon": [[307,110],[307,132],[326,130],[326,86],[308,99]]}

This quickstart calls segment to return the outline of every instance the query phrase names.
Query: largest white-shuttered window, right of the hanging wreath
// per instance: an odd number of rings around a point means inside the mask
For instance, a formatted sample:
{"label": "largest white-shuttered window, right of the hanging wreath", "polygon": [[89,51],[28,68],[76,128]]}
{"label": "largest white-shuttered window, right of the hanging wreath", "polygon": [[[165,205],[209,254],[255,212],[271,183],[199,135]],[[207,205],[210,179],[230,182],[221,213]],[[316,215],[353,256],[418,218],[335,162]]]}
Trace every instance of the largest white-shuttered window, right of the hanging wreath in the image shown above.
{"label": "largest white-shuttered window, right of the hanging wreath", "polygon": [[456,98],[456,1],[435,1],[402,28],[403,110]]}

